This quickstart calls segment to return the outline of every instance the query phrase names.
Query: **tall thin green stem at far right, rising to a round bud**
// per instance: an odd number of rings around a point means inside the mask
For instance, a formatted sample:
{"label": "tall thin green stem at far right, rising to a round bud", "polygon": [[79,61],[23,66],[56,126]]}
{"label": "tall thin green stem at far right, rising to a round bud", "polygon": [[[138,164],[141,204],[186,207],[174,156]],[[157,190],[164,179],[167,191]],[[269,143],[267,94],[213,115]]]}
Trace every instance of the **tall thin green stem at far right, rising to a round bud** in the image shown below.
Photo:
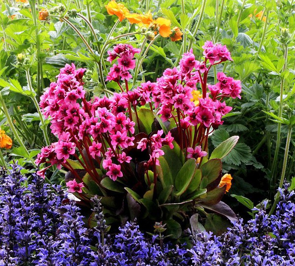
{"label": "tall thin green stem at far right, rising to a round bud", "polygon": [[[285,64],[283,66],[282,71],[284,72],[287,69],[287,64],[288,64],[288,46],[284,45],[284,59],[285,59]],[[284,84],[285,84],[285,79],[282,76],[281,77],[281,86],[280,86],[280,103],[279,103],[279,117],[282,117],[283,113],[283,95],[284,95]],[[278,130],[277,130],[277,139],[276,139],[276,145],[275,145],[275,151],[274,151],[274,157],[272,161],[272,166],[271,166],[271,180],[275,181],[275,168],[277,166],[277,160],[278,160],[278,155],[279,155],[279,149],[280,149],[280,144],[281,144],[281,128],[282,124],[278,124]]]}

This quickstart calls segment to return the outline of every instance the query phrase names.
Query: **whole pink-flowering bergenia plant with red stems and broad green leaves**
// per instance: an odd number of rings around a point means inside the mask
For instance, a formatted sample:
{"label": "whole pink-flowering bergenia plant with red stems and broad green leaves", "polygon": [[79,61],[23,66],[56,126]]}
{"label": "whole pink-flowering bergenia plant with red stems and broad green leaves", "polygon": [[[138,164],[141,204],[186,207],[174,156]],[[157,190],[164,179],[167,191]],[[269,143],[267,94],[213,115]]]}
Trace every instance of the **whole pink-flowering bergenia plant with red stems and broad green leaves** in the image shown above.
{"label": "whole pink-flowering bergenia plant with red stems and broad green leaves", "polygon": [[132,88],[140,50],[118,44],[108,51],[113,66],[106,80],[117,83],[120,92],[90,100],[83,87],[86,69],[74,64],[60,69],[40,101],[58,141],[42,148],[36,164],[50,165],[39,174],[51,165],[65,167],[68,191],[89,206],[93,195],[101,197],[108,223],[134,217],[150,226],[163,221],[177,238],[175,229],[181,233],[180,224],[197,210],[236,220],[220,200],[232,180],[222,175],[221,159],[238,137],[209,156],[208,136],[232,110],[225,99],[240,98],[241,84],[222,72],[216,84],[207,84],[210,69],[232,58],[221,44],[207,41],[203,49],[204,61],[190,50],[156,82]]}

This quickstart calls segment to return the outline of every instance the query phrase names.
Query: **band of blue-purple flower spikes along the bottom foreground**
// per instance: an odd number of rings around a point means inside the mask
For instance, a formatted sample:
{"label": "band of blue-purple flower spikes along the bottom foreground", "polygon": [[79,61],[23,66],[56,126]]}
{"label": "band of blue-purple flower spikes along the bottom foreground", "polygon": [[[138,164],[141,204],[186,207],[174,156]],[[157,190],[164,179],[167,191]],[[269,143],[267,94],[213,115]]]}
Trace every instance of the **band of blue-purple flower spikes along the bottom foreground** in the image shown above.
{"label": "band of blue-purple flower spikes along the bottom foreground", "polygon": [[0,169],[0,266],[295,265],[295,193],[288,185],[279,192],[274,215],[257,209],[254,219],[239,219],[221,236],[188,231],[191,242],[177,246],[145,236],[136,222],[109,235],[96,197],[96,226],[87,228],[59,186],[25,177],[15,164]]}

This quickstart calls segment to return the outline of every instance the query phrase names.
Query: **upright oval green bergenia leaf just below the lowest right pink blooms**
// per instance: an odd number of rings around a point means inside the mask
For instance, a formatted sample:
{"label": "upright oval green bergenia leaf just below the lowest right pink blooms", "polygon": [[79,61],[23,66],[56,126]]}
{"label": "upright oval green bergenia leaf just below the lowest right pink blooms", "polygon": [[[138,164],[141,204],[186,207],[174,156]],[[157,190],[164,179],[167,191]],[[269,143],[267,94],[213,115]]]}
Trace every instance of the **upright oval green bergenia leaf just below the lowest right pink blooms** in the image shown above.
{"label": "upright oval green bergenia leaf just below the lowest right pink blooms", "polygon": [[187,190],[194,176],[195,169],[196,169],[196,160],[193,158],[187,160],[185,164],[181,167],[175,179],[175,188],[178,191],[175,194],[176,196],[180,196]]}

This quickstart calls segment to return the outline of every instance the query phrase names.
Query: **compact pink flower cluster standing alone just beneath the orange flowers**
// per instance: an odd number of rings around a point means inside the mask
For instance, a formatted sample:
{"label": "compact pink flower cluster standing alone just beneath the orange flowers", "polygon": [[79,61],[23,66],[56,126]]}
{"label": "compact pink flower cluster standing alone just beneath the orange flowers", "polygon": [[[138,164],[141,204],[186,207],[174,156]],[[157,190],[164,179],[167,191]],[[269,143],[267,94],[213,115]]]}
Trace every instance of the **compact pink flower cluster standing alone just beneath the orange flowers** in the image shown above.
{"label": "compact pink flower cluster standing alone just beneath the orange flowers", "polygon": [[114,64],[108,73],[107,81],[129,80],[132,78],[128,70],[134,69],[134,55],[140,53],[140,49],[134,48],[130,44],[118,44],[113,51],[108,51],[109,57],[107,61],[113,62],[118,57],[118,65]]}

